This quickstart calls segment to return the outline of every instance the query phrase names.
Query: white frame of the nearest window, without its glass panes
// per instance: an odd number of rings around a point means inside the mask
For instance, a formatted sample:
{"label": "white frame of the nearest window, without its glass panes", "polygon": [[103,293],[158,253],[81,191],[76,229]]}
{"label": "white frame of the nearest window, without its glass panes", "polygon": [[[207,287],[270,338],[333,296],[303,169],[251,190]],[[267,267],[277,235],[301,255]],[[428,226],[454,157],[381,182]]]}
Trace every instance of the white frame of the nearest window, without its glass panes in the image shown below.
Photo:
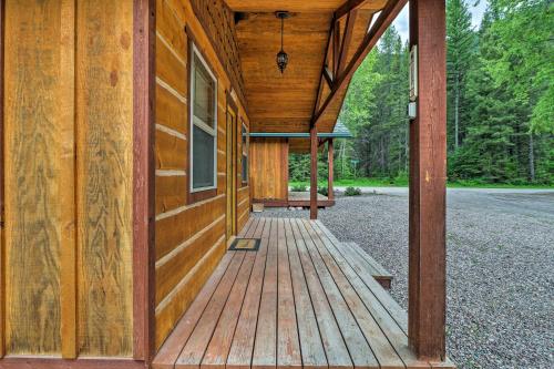
{"label": "white frame of the nearest window, without its glass panes", "polygon": [[[196,192],[203,192],[203,191],[208,191],[208,189],[215,189],[217,188],[217,79],[215,78],[214,73],[209,69],[209,65],[206,63],[204,58],[202,57],[202,53],[198,51],[196,45],[192,43],[192,53],[191,53],[191,75],[189,75],[189,83],[188,88],[191,89],[191,101],[188,104],[188,116],[191,116],[191,136],[188,137],[191,140],[191,145],[189,145],[189,189],[191,193],[196,193]],[[214,81],[214,127],[212,129],[209,125],[207,125],[205,122],[203,122],[201,119],[196,117],[194,115],[194,73],[195,73],[195,63],[196,63],[196,58],[201,61],[202,65],[204,69],[208,72],[209,76]],[[194,127],[198,127],[202,131],[206,132],[207,134],[212,135],[214,137],[214,185],[213,186],[206,186],[206,187],[197,187],[194,188]]]}

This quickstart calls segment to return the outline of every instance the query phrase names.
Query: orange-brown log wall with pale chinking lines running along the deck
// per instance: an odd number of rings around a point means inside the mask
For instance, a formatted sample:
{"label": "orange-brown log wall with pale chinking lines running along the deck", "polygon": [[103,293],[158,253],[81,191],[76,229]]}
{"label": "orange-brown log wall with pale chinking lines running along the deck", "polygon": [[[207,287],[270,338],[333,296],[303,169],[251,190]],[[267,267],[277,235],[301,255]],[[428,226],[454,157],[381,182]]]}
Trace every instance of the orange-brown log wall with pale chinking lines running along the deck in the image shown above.
{"label": "orange-brown log wall with pale chinking lines running along the deck", "polygon": [[[156,1],[156,347],[196,297],[229,240],[226,236],[228,99],[238,107],[237,153],[242,152],[242,122],[248,126],[240,102],[243,91],[232,20],[233,14],[223,1]],[[217,80],[217,189],[203,198],[188,191],[191,42]],[[249,187],[242,182],[239,158],[237,155],[237,229],[247,222],[250,208]]]}

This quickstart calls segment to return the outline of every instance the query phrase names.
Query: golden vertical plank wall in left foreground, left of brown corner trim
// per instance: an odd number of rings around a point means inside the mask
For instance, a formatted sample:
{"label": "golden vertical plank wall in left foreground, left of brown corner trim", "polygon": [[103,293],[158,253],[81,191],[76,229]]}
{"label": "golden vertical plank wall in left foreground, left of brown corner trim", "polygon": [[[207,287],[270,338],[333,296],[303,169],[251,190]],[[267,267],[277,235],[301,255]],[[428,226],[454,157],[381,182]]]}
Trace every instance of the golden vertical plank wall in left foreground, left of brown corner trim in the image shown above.
{"label": "golden vertical plank wall in left foreground, left of brown corner trim", "polygon": [[133,1],[4,6],[4,353],[130,357]]}

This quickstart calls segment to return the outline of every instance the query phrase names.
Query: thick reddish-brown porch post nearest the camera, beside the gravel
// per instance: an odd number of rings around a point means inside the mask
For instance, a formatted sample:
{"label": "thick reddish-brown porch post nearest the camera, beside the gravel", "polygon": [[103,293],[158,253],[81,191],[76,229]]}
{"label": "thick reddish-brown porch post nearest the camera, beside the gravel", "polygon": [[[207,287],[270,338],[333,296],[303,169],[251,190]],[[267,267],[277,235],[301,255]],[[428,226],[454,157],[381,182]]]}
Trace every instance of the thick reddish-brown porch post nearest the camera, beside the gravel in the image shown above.
{"label": "thick reddish-brown porch post nearest the camera, beside the gravel", "polygon": [[444,0],[410,1],[418,47],[417,119],[410,123],[408,336],[419,358],[445,355],[447,65]]}

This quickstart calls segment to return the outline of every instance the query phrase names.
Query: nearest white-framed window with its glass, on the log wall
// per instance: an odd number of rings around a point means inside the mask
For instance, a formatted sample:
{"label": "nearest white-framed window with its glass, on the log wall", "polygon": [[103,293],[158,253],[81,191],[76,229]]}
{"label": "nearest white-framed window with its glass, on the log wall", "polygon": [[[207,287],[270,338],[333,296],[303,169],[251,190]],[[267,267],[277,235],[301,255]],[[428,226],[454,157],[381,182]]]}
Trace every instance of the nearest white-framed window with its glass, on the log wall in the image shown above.
{"label": "nearest white-framed window with its glass, on the log wall", "polygon": [[217,81],[194,44],[191,57],[191,192],[199,192],[217,184]]}

